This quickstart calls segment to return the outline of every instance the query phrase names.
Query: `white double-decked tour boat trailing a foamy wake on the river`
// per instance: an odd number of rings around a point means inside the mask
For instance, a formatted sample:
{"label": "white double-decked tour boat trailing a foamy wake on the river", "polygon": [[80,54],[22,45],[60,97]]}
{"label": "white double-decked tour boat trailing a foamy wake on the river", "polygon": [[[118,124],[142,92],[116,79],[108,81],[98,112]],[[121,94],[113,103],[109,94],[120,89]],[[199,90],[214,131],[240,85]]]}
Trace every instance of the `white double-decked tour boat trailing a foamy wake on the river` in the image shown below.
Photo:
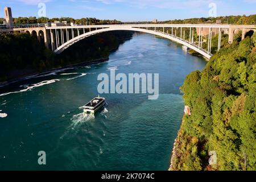
{"label": "white double-decked tour boat trailing a foamy wake on the river", "polygon": [[83,106],[84,113],[86,114],[94,114],[98,110],[100,110],[106,104],[105,98],[103,97],[95,97],[93,100],[88,102],[86,105]]}

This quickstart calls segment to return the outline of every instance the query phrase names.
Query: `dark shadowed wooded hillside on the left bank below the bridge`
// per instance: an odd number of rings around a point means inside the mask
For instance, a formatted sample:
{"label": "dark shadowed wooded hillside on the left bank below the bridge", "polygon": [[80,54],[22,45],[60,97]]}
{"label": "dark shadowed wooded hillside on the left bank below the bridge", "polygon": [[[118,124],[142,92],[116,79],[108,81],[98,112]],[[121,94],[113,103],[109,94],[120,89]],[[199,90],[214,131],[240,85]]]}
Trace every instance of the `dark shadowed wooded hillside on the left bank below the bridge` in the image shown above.
{"label": "dark shadowed wooded hillside on the left bank below the bridge", "polygon": [[79,63],[106,60],[133,32],[112,31],[77,42],[60,55],[26,33],[0,34],[0,82]]}

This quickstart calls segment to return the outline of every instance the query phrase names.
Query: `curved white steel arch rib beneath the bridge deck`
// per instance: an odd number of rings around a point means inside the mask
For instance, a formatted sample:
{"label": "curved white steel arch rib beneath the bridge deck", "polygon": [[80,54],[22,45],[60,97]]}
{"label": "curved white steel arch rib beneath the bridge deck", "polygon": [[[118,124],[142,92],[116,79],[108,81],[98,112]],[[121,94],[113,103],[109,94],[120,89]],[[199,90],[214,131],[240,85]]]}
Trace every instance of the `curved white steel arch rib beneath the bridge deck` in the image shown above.
{"label": "curved white steel arch rib beneath the bridge deck", "polygon": [[160,32],[160,31],[154,31],[154,30],[147,30],[144,28],[135,28],[135,27],[124,27],[124,26],[120,26],[120,27],[109,27],[109,28],[101,28],[99,30],[94,30],[94,31],[90,31],[90,32],[86,32],[85,34],[76,36],[75,38],[68,40],[68,42],[62,44],[61,46],[57,47],[55,49],[55,53],[61,53],[63,52],[65,49],[67,49],[68,47],[72,46],[73,44],[75,44],[76,42],[79,42],[80,40],[87,38],[89,36],[92,35],[96,35],[96,34],[100,34],[102,32],[108,32],[108,31],[122,31],[122,30],[126,30],[126,31],[138,31],[138,32],[144,32],[147,34],[152,34],[152,35],[157,35],[157,36],[161,36],[163,38],[172,40],[176,43],[182,44],[183,46],[187,46],[188,48],[193,49],[194,51],[200,53],[201,55],[203,55],[204,57],[207,57],[207,59],[210,59],[210,57],[212,57],[212,54],[210,52],[205,51],[203,48],[196,46],[193,43],[189,43],[187,40],[184,40],[182,38],[178,38],[177,36],[171,35],[171,34],[167,34],[166,32]]}

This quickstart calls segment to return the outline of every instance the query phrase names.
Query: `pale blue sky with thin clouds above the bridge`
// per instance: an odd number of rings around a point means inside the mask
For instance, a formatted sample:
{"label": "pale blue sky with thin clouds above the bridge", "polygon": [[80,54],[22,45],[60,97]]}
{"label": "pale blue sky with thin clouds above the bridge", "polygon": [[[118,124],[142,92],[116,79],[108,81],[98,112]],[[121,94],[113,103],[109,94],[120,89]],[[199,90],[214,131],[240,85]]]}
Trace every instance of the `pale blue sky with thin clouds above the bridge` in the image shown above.
{"label": "pale blue sky with thin clouds above the bridge", "polygon": [[49,18],[95,17],[122,21],[200,18],[209,16],[210,3],[216,4],[217,16],[256,14],[256,0],[1,0],[0,17],[4,16],[5,6],[12,8],[14,17],[38,17],[40,2],[46,4]]}

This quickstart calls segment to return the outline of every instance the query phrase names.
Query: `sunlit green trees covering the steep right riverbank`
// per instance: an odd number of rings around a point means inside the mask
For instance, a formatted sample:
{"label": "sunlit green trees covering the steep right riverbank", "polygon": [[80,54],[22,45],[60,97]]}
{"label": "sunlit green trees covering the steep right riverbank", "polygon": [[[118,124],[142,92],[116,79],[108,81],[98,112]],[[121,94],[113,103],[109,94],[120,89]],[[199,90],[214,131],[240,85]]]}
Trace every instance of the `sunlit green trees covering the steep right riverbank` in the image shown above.
{"label": "sunlit green trees covering the steep right riverbank", "polygon": [[[187,76],[181,90],[192,115],[183,118],[173,169],[256,170],[255,36],[238,36]],[[217,152],[217,167],[209,166],[209,151]]]}

